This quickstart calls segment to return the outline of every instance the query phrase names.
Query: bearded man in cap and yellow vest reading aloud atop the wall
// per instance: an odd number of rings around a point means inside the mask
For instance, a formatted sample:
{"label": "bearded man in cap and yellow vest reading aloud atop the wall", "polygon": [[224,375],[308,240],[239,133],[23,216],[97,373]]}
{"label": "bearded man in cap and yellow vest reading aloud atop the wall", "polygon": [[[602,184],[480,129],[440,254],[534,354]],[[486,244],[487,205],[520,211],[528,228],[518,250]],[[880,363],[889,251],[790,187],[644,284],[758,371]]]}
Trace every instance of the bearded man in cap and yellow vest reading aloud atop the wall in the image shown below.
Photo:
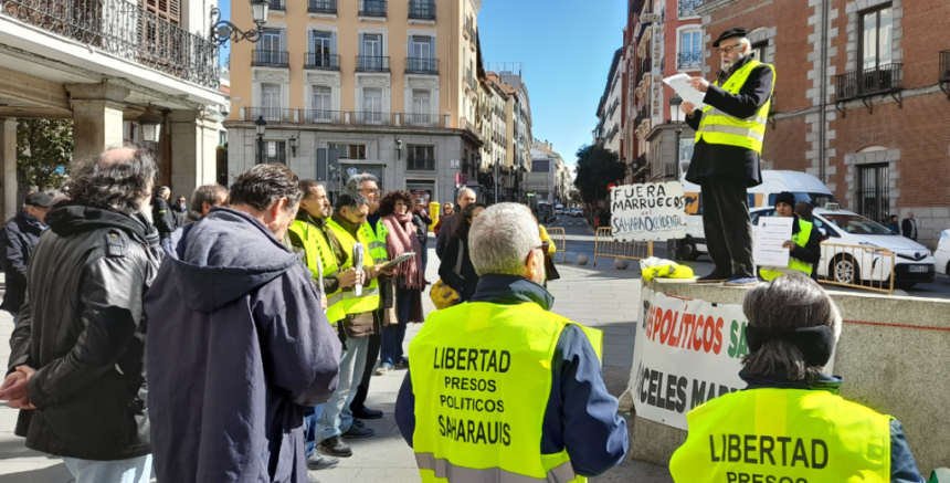
{"label": "bearded man in cap and yellow vest reading aloud atop the wall", "polygon": [[698,283],[748,286],[759,283],[752,259],[752,223],[746,190],[762,183],[759,157],[775,85],[775,70],[752,55],[748,29],[729,29],[712,46],[721,70],[710,84],[693,77],[693,88],[705,93],[706,107],[690,102],[680,108],[696,130],[686,180],[703,189],[703,229],[716,267]]}

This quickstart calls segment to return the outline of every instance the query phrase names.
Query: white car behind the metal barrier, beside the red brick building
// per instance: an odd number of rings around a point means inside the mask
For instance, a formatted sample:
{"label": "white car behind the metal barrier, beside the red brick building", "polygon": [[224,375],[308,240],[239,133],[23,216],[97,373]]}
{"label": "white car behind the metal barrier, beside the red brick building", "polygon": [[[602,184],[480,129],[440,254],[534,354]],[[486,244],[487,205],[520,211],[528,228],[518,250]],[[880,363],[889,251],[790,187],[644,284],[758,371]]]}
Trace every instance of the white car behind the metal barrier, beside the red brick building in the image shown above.
{"label": "white car behind the metal barrier, beside the red brick building", "polygon": [[[751,210],[751,214],[752,223],[758,225],[762,217],[774,217],[775,209],[759,208]],[[820,279],[841,283],[854,283],[855,280],[879,283],[890,282],[893,275],[895,286],[901,288],[933,282],[936,262],[930,250],[920,243],[894,234],[884,225],[851,211],[815,208],[813,214],[815,227],[825,235],[822,245],[867,246],[864,250],[823,246],[817,264]],[[889,258],[875,249],[894,253],[894,273]]]}

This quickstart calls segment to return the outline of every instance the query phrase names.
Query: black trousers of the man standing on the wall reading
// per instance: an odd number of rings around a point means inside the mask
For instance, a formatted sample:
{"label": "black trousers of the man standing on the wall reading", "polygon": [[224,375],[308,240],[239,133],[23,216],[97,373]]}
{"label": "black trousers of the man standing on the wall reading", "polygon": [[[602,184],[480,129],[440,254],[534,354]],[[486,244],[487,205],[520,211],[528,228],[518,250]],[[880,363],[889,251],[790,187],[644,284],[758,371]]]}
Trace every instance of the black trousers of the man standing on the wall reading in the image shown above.
{"label": "black trousers of the man standing on the wall reading", "polygon": [[717,279],[756,276],[752,259],[752,219],[745,178],[709,175],[703,188],[703,230]]}

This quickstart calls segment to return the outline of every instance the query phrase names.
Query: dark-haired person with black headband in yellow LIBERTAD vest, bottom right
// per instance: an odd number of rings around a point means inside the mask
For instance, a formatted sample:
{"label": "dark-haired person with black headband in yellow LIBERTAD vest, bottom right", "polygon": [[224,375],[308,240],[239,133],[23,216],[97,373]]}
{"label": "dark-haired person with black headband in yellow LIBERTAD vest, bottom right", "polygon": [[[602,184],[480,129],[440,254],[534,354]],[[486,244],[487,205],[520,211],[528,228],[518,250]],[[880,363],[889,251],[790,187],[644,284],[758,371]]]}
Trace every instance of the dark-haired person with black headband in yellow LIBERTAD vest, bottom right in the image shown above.
{"label": "dark-haired person with black headband in yellow LIBERTAD vest, bottom right", "polygon": [[841,315],[804,274],[759,284],[742,304],[745,390],[686,416],[676,483],[923,483],[900,422],[838,396],[830,376]]}

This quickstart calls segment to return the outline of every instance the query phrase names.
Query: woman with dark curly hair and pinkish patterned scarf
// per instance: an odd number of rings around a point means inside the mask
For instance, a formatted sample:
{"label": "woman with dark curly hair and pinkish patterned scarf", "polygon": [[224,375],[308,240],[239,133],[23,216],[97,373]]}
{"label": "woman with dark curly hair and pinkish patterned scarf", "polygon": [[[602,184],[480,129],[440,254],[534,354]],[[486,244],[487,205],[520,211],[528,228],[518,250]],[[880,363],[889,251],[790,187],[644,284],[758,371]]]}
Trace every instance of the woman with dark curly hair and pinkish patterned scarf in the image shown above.
{"label": "woman with dark curly hair and pinkish patterned scarf", "polygon": [[409,252],[415,253],[415,256],[400,263],[392,275],[395,286],[397,323],[382,328],[378,375],[389,372],[393,366],[409,367],[409,360],[403,356],[402,350],[405,326],[410,322],[425,319],[422,314],[422,290],[425,287],[422,248],[415,235],[411,208],[412,195],[409,191],[390,191],[379,203],[382,223],[389,230],[386,237],[389,260]]}

